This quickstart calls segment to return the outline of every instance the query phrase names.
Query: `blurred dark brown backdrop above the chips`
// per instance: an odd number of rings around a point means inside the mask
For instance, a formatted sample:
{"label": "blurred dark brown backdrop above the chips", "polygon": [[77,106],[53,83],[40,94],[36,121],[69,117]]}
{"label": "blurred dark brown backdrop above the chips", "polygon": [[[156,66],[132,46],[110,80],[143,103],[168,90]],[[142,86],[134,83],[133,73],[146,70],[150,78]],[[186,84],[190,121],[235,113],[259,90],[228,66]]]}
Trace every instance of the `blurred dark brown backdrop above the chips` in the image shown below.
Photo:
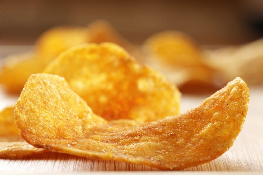
{"label": "blurred dark brown backdrop above the chips", "polygon": [[50,27],[86,26],[98,18],[136,44],[166,29],[184,31],[203,45],[240,44],[263,36],[262,0],[1,0],[1,45],[31,45]]}

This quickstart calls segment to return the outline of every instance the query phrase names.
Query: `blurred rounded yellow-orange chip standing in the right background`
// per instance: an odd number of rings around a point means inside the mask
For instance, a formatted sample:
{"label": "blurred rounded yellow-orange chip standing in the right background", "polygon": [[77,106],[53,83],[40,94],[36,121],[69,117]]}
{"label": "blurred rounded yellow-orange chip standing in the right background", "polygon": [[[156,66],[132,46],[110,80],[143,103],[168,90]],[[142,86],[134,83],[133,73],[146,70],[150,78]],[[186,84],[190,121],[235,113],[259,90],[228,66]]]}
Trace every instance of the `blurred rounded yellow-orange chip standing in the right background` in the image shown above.
{"label": "blurred rounded yellow-orange chip standing in the right background", "polygon": [[163,31],[145,41],[146,48],[160,61],[175,66],[198,66],[201,50],[186,34],[179,31]]}

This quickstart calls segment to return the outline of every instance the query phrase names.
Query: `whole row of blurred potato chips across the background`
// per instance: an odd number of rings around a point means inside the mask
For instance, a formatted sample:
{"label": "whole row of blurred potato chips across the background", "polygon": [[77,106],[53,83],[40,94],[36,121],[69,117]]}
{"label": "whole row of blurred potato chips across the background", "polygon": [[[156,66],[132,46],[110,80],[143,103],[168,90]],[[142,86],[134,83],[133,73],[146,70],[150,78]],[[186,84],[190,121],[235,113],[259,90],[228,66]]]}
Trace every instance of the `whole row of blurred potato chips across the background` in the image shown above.
{"label": "whole row of blurred potato chips across the background", "polygon": [[11,55],[1,67],[1,84],[20,94],[28,77],[40,73],[61,52],[83,43],[113,42],[139,63],[160,71],[182,87],[207,85],[221,88],[237,76],[249,84],[262,84],[263,39],[243,46],[208,50],[183,32],[163,31],[150,36],[143,47],[125,40],[107,22],[97,20],[87,27],[60,26],[44,32],[34,51]]}

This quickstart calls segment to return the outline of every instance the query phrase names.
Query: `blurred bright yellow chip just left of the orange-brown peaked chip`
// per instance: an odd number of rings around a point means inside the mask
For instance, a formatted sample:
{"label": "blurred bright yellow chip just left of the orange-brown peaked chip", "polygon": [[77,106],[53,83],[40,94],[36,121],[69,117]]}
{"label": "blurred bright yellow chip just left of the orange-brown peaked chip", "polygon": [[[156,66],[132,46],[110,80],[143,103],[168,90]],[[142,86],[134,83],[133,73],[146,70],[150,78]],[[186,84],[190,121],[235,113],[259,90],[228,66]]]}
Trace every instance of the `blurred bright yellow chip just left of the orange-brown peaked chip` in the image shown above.
{"label": "blurred bright yellow chip just left of the orange-brown peaked chip", "polygon": [[59,26],[44,32],[36,42],[36,50],[42,57],[55,58],[68,48],[88,42],[85,27]]}

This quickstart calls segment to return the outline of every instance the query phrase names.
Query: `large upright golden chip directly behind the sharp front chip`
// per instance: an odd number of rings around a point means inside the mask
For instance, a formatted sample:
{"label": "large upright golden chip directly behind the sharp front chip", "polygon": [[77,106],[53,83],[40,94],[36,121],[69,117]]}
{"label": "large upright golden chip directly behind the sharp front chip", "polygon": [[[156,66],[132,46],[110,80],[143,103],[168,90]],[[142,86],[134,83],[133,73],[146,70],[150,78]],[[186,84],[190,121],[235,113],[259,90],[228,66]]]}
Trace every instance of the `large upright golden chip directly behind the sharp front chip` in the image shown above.
{"label": "large upright golden chip directly behind the sharp front chip", "polygon": [[44,73],[64,77],[94,113],[107,120],[153,121],[179,114],[178,89],[113,43],[71,48]]}

